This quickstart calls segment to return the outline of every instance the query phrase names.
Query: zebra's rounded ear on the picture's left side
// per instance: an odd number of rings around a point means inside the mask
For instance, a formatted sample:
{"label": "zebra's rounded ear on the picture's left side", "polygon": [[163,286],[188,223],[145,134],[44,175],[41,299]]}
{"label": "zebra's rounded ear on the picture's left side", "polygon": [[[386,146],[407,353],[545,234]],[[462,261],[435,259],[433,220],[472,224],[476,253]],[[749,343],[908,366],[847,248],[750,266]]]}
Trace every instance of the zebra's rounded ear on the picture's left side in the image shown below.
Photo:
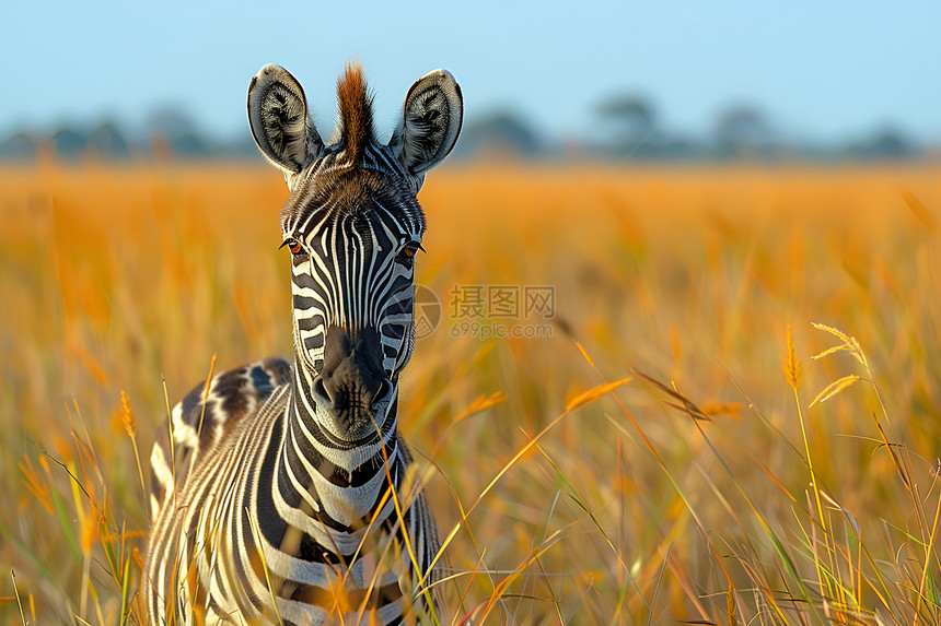
{"label": "zebra's rounded ear on the picture's left side", "polygon": [[248,125],[255,143],[284,173],[303,172],[321,153],[324,142],[307,116],[307,99],[301,83],[284,68],[267,64],[248,85]]}

